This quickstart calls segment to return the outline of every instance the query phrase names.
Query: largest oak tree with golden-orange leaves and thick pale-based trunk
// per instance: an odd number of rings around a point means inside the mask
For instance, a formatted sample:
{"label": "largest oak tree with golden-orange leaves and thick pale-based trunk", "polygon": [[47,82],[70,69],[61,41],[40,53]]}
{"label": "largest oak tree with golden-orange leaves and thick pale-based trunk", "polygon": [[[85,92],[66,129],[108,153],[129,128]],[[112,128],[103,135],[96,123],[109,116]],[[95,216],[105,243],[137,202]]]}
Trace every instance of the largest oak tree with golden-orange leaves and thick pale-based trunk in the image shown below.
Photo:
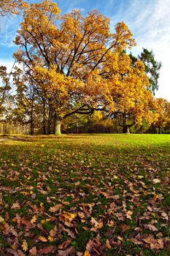
{"label": "largest oak tree with golden-orange leaves and thick pale-based trunk", "polygon": [[[78,10],[60,16],[57,4],[49,0],[25,10],[15,43],[15,58],[53,108],[58,134],[64,118],[98,108],[104,65],[112,53],[135,45],[125,23],[117,23],[111,33],[109,18],[98,11],[86,17]],[[88,86],[94,77],[91,97]]]}

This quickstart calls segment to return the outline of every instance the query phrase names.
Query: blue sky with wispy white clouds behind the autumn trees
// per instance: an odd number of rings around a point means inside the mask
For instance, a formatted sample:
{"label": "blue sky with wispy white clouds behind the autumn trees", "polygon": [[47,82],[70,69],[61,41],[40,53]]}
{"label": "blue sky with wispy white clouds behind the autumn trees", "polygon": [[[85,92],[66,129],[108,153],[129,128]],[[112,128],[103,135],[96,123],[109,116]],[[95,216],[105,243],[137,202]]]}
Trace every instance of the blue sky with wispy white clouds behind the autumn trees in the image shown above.
{"label": "blue sky with wispy white clouds behind the autumn trees", "polygon": [[[36,2],[29,1],[29,2]],[[170,101],[169,57],[170,57],[170,0],[58,0],[61,12],[79,9],[82,15],[97,9],[110,18],[111,28],[119,21],[125,21],[134,34],[137,46],[132,49],[134,55],[142,48],[153,50],[155,59],[161,61],[159,90],[156,97]],[[12,53],[17,49],[12,43],[21,17],[0,18],[0,65],[12,67]]]}

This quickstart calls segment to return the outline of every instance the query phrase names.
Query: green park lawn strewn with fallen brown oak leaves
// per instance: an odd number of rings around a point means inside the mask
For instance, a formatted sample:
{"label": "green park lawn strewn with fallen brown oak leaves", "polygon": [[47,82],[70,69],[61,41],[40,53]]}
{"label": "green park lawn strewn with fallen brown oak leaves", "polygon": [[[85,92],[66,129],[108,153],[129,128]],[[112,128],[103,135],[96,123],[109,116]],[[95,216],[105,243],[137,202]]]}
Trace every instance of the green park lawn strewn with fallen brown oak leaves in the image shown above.
{"label": "green park lawn strewn with fallen brown oak leaves", "polygon": [[170,135],[0,138],[0,255],[169,255]]}

